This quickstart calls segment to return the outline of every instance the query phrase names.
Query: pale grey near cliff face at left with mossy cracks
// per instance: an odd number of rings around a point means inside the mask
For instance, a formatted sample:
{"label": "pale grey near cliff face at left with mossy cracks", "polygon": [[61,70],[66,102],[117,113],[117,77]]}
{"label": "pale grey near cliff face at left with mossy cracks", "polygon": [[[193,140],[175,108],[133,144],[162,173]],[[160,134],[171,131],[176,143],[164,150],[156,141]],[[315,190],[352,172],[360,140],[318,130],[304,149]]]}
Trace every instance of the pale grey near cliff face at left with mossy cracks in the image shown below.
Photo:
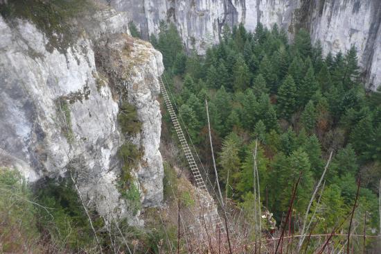
{"label": "pale grey near cliff face at left with mossy cracks", "polygon": [[[125,96],[142,123],[141,132],[128,137],[143,151],[133,170],[141,202],[159,205],[163,166],[156,77],[163,72],[161,53],[132,39],[121,13],[104,10],[91,22],[60,53],[46,50],[47,39],[34,24],[17,20],[10,26],[0,17],[0,167],[15,167],[30,182],[72,172],[82,196],[100,215],[139,223],[116,186],[121,174],[117,151],[126,142],[118,103]],[[105,51],[114,56],[107,59],[117,76],[113,84],[100,72],[105,62],[98,58]]]}

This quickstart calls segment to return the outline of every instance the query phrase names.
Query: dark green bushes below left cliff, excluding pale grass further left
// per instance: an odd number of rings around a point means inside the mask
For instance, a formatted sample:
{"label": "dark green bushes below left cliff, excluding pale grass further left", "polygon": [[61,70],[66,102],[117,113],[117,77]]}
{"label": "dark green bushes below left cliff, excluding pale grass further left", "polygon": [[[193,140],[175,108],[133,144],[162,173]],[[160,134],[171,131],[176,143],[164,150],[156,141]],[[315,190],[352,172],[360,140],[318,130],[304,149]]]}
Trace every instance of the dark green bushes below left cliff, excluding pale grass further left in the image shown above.
{"label": "dark green bushes below left cliff, excluding pale grass further left", "polygon": [[[80,250],[95,244],[89,219],[71,180],[47,180],[44,188],[38,190],[37,197],[39,204],[49,208],[40,210],[38,226],[51,237],[55,246]],[[104,226],[103,219],[96,214],[91,219],[96,228]]]}

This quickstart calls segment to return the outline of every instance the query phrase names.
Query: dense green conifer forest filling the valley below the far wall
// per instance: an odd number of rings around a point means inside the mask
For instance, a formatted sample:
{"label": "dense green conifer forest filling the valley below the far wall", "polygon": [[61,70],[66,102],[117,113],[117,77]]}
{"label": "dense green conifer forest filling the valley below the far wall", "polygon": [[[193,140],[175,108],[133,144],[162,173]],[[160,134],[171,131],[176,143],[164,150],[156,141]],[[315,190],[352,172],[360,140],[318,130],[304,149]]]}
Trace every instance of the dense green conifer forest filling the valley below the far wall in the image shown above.
{"label": "dense green conifer forest filling the valley below the far wall", "polygon": [[252,157],[258,138],[263,210],[281,221],[301,173],[292,217],[302,218],[333,150],[326,188],[319,205],[317,200],[312,205],[312,212],[326,221],[314,232],[330,232],[351,212],[360,177],[353,220],[363,227],[367,211],[371,214],[367,234],[377,228],[381,100],[378,93],[364,90],[355,47],[324,58],[321,44],[312,45],[303,29],[296,33],[294,44],[277,26],[269,31],[258,24],[249,33],[240,24],[232,30],[224,26],[222,31],[220,44],[207,49],[204,57],[186,54],[172,24],[161,24],[159,38],[151,40],[163,53],[178,113],[202,160],[210,165],[204,110],[208,99],[224,192],[243,208],[252,207]]}

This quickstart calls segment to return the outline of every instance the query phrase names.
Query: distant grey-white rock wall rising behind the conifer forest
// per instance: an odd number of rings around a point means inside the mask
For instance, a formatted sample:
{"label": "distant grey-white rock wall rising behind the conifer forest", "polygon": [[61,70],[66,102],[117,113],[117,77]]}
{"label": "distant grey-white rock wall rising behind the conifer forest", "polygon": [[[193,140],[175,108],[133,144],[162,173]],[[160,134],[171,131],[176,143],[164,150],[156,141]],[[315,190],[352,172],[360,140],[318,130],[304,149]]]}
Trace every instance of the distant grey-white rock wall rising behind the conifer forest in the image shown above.
{"label": "distant grey-white rock wall rising behind the conifer forest", "polygon": [[301,25],[324,52],[357,47],[367,86],[381,84],[381,1],[378,0],[111,0],[129,13],[144,37],[158,33],[161,20],[177,24],[186,46],[204,53],[219,41],[223,24],[242,22],[254,31],[258,22],[283,27],[292,37]]}

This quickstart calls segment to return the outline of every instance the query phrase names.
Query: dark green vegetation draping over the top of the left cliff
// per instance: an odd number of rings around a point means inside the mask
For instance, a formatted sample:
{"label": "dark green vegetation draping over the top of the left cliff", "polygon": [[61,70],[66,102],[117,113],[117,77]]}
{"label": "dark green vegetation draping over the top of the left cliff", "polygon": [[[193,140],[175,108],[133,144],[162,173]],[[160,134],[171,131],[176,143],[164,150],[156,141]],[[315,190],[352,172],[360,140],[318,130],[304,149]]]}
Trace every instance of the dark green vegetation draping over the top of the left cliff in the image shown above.
{"label": "dark green vegetation draping over the top of the left cliff", "polygon": [[47,49],[57,49],[62,53],[76,40],[71,19],[91,9],[94,6],[88,0],[15,0],[0,3],[0,14],[6,21],[13,22],[15,17],[28,19],[48,37]]}

